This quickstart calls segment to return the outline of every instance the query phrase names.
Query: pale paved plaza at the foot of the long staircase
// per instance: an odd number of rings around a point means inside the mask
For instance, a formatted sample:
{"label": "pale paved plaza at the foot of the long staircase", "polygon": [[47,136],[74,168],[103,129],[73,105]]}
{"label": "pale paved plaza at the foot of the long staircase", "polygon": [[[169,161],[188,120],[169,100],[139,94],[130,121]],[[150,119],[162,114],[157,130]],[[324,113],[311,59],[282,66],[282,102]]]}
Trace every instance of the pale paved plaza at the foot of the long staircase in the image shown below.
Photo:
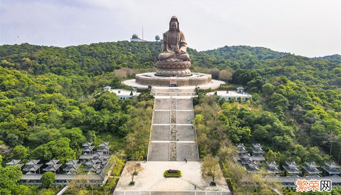
{"label": "pale paved plaza at the foot of the long staircase", "polygon": [[[127,162],[136,163],[136,162]],[[121,178],[117,184],[114,195],[125,195],[134,194],[137,192],[150,192],[156,193],[158,191],[163,191],[167,195],[200,195],[201,192],[208,192],[211,194],[207,195],[227,195],[229,190],[225,180],[219,179],[216,181],[217,186],[209,186],[210,179],[202,179],[200,175],[200,163],[199,162],[157,162],[157,161],[147,161],[140,162],[143,170],[139,172],[137,176],[134,177],[135,185],[129,186],[129,182],[132,180],[132,176],[124,170]],[[182,176],[180,178],[165,178],[163,173],[168,169],[181,170]],[[194,189],[196,185],[196,189]],[[173,192],[167,192],[173,191]],[[172,194],[174,192],[179,192],[178,194]],[[167,192],[167,193],[166,193]],[[216,192],[216,193],[213,193]],[[223,192],[221,194],[221,192]],[[128,193],[128,194],[127,194]],[[162,195],[158,194],[157,195]],[[154,195],[156,195],[154,194]]]}

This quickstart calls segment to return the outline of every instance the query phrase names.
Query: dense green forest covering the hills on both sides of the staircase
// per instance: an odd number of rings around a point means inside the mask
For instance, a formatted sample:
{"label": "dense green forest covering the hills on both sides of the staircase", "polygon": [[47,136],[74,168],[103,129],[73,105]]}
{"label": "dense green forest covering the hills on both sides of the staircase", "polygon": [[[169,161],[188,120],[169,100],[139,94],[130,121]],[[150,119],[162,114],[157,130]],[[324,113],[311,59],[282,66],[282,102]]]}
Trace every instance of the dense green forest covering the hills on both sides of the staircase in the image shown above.
{"label": "dense green forest covering the hills on both sides of the staircase", "polygon": [[[102,87],[132,90],[121,81],[155,70],[160,51],[160,42],[1,45],[0,194],[32,191],[15,184],[19,179],[8,181],[11,174],[20,178],[4,166],[12,158],[65,163],[80,155],[84,142],[109,141],[121,159],[146,159],[152,96],[121,101]],[[201,92],[193,99],[201,157],[229,163],[235,143],[259,142],[279,167],[289,160],[341,164],[340,55],[307,58],[249,46],[188,53],[192,72],[241,85],[252,95],[244,103]]]}

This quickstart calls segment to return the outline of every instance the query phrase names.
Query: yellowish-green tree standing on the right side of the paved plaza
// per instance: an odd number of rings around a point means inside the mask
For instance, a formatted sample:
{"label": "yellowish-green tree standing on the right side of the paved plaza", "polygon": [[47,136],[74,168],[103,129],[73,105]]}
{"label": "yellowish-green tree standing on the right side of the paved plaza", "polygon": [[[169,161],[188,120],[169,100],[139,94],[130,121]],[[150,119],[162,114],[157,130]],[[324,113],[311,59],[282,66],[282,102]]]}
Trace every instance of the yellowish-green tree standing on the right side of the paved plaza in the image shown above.
{"label": "yellowish-green tree standing on the right side of the paved plaza", "polygon": [[219,159],[212,156],[205,156],[203,163],[201,164],[201,176],[205,179],[207,177],[212,178],[212,185],[215,185],[214,179],[221,178],[221,172],[219,167]]}

